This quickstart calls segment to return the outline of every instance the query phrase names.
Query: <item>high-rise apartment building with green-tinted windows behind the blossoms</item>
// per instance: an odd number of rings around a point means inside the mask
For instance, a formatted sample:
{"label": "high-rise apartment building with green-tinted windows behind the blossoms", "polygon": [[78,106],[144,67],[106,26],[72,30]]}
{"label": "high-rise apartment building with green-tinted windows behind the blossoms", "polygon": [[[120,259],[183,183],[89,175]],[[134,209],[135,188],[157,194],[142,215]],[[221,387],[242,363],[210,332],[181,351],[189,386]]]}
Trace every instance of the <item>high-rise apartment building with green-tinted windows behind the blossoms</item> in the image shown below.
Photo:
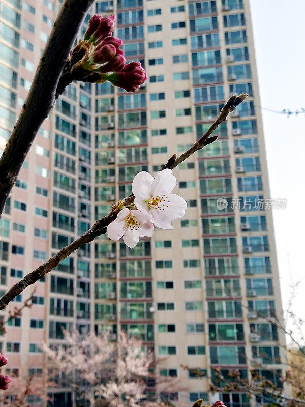
{"label": "high-rise apartment building with green-tinted windows behind the blossoms", "polygon": [[[0,2],[2,150],[61,3]],[[32,308],[1,337],[7,373],[40,374],[40,344],[63,344],[62,327],[84,334],[109,327],[113,340],[124,329],[156,357],[169,356],[160,374],[189,387],[162,395],[171,401],[211,402],[211,366],[225,378],[254,368],[278,383],[284,337],[270,321],[282,305],[249,0],[96,1],[78,38],[95,13],[117,16],[114,34],[148,80],[134,94],[107,82],[72,83],[59,97],[0,220],[2,293],[106,215],[131,192],[136,173],[156,175],[191,146],[231,94],[249,97],[215,131],[216,142],[174,170],[175,192],[188,202],[174,230],[156,229],[132,250],[102,235],[36,284]],[[194,377],[197,367],[206,378]],[[49,395],[52,407],[74,405],[69,388]],[[242,391],[218,398],[249,405]]]}

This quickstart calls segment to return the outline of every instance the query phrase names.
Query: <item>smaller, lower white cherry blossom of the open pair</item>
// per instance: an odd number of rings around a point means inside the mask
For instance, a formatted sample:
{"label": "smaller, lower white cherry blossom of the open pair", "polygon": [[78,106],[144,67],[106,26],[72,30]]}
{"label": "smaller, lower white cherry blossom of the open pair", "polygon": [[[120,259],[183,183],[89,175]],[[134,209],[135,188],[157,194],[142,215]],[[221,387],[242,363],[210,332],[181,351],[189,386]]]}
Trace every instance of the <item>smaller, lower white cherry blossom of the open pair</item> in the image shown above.
{"label": "smaller, lower white cherry blossom of the open pair", "polygon": [[148,216],[137,209],[123,208],[117,218],[108,225],[107,234],[111,240],[119,240],[123,236],[126,246],[133,249],[140,237],[153,236],[154,225]]}

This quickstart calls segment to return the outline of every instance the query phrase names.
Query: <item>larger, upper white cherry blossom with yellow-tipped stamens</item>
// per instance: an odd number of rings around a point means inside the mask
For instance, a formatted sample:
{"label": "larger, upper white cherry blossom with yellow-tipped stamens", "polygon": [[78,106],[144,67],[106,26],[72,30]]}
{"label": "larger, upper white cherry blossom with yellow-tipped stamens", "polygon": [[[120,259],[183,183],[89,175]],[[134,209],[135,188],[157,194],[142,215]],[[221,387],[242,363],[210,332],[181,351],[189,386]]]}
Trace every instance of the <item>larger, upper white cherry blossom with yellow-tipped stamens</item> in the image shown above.
{"label": "larger, upper white cherry blossom with yellow-tipped stamens", "polygon": [[171,222],[184,216],[187,209],[187,202],[171,193],[176,184],[176,177],[169,168],[158,172],[155,179],[142,171],[133,180],[135,206],[161,229],[173,229]]}

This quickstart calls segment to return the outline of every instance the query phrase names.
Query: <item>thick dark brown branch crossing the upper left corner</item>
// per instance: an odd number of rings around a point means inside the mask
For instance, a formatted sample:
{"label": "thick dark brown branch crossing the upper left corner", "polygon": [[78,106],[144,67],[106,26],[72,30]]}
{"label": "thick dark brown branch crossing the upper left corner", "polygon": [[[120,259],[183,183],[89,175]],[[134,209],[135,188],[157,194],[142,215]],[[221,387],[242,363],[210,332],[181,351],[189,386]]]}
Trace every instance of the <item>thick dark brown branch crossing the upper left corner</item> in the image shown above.
{"label": "thick dark brown branch crossing the upper left corner", "polygon": [[17,123],[0,158],[0,216],[22,163],[55,101],[55,90],[75,35],[93,0],[65,0]]}

